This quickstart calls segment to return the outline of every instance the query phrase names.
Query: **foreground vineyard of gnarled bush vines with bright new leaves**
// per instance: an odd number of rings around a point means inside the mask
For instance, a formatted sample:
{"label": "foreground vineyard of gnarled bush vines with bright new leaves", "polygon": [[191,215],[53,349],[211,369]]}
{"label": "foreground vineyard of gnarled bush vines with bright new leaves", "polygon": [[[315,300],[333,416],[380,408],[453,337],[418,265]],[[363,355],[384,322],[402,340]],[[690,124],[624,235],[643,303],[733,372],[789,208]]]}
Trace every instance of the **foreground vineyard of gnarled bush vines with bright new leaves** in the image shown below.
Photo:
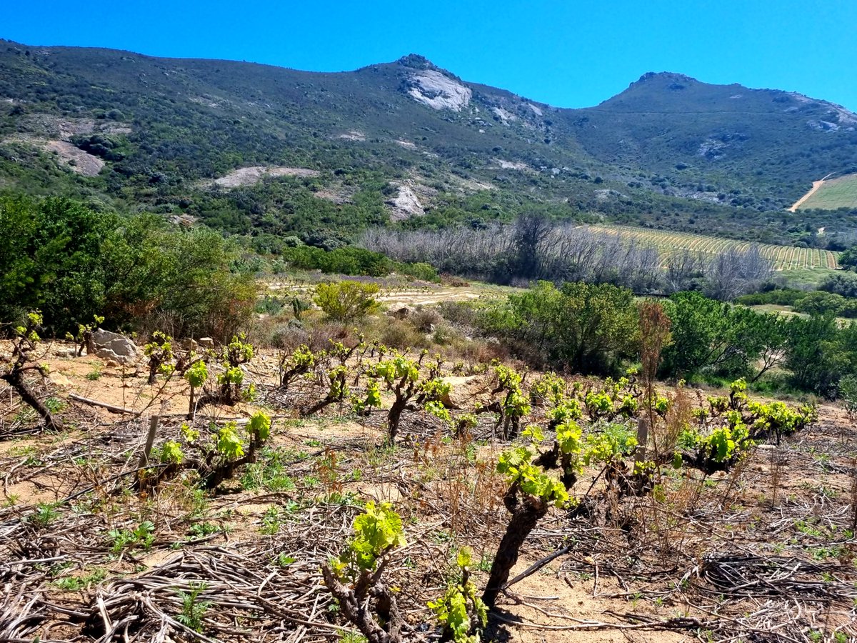
{"label": "foreground vineyard of gnarled bush vines with bright new leaves", "polygon": [[660,385],[652,319],[604,380],[339,324],[119,364],[31,314],[3,345],[0,639],[853,640],[842,411]]}

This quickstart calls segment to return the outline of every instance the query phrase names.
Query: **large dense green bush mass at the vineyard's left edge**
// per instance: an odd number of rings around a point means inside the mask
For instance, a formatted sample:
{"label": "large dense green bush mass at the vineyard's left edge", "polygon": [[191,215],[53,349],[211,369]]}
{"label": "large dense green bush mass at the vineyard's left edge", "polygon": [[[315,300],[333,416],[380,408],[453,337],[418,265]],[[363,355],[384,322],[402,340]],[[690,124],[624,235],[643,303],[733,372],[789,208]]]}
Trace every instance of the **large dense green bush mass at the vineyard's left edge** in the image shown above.
{"label": "large dense green bush mass at the vineyard's left edge", "polygon": [[237,249],[206,228],[120,219],[66,199],[0,199],[0,315],[41,309],[53,333],[105,315],[114,326],[228,339],[253,312]]}

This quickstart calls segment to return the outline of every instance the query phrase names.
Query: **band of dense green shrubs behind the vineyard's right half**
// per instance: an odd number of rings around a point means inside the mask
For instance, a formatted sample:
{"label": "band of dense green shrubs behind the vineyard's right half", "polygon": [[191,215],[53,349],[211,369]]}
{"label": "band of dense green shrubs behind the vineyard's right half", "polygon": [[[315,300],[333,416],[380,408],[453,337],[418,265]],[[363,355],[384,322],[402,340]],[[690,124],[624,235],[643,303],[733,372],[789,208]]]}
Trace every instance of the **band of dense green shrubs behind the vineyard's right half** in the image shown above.
{"label": "band of dense green shrubs behind the vineyard's right half", "polygon": [[[807,317],[758,313],[698,292],[662,300],[672,324],[658,375],[712,382],[745,377],[763,388],[833,397],[857,373],[857,323],[830,313]],[[523,294],[481,303],[445,303],[447,316],[497,337],[538,367],[615,375],[638,354],[638,308],[614,285],[542,281]]]}

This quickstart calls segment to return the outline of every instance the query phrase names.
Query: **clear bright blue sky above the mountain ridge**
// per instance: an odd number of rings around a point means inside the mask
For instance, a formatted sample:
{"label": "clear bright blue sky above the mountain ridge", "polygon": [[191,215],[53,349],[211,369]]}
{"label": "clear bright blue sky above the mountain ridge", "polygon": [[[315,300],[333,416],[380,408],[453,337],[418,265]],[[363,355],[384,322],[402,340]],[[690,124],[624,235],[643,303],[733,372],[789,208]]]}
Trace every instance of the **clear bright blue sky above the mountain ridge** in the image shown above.
{"label": "clear bright blue sky above the mountain ridge", "polygon": [[0,38],[340,71],[420,53],[563,107],[647,71],[806,93],[857,111],[857,1],[0,0]]}

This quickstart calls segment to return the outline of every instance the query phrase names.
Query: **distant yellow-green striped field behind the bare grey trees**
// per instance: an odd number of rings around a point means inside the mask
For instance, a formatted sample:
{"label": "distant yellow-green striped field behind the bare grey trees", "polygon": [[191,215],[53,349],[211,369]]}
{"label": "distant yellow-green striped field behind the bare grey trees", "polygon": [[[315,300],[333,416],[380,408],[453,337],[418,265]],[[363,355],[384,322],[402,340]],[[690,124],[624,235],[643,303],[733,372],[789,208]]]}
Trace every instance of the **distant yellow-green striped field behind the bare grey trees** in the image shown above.
{"label": "distant yellow-green striped field behind the bare grey trees", "polygon": [[[857,185],[857,182],[855,182]],[[620,235],[633,239],[638,243],[651,245],[661,250],[667,257],[678,250],[692,250],[705,255],[715,255],[730,248],[746,249],[752,243],[749,241],[734,241],[719,237],[706,237],[701,234],[687,232],[669,232],[664,230],[646,230],[630,225],[590,225],[590,230]],[[836,268],[836,257],[839,253],[815,248],[794,248],[793,246],[758,243],[762,255],[774,262],[775,270],[797,270],[800,268]]]}

